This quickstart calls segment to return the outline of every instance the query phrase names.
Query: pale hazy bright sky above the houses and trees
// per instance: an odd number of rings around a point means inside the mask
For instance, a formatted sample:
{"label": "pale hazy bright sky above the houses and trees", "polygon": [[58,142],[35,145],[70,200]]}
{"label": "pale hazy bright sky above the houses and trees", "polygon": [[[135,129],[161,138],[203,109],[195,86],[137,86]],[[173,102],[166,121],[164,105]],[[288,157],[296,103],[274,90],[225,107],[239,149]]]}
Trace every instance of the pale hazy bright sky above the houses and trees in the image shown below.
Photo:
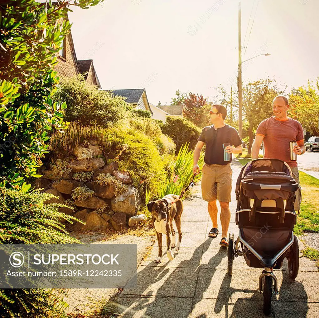
{"label": "pale hazy bright sky above the houses and trees", "polygon": [[[214,100],[218,85],[237,85],[238,4],[107,0],[71,8],[77,58],[93,59],[102,89],[145,88],[155,105],[170,105],[177,89]],[[288,92],[317,78],[318,12],[317,0],[242,0],[242,60],[271,54],[243,63],[243,82],[270,76]]]}

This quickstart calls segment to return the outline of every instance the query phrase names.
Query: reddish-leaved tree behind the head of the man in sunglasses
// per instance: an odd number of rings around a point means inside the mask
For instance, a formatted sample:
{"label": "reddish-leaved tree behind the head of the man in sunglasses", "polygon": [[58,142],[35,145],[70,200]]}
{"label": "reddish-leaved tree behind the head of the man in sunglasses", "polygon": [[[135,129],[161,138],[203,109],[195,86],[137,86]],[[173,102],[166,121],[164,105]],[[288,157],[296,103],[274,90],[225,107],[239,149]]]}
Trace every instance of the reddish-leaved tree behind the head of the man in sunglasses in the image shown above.
{"label": "reddish-leaved tree behind the head of the man in sunglasses", "polygon": [[211,103],[203,95],[189,93],[184,99],[183,115],[197,127],[205,127],[209,123]]}

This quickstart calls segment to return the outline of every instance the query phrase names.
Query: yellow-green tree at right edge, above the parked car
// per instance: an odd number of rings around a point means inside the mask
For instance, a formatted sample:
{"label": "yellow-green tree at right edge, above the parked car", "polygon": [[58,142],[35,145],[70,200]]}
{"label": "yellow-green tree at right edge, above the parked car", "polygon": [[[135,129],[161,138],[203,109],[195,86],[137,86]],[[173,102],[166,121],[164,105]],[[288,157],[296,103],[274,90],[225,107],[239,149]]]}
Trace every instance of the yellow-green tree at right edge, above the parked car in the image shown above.
{"label": "yellow-green tree at right edge, above the parked car", "polygon": [[308,81],[307,86],[293,88],[289,95],[289,114],[300,121],[303,128],[318,136],[319,83]]}

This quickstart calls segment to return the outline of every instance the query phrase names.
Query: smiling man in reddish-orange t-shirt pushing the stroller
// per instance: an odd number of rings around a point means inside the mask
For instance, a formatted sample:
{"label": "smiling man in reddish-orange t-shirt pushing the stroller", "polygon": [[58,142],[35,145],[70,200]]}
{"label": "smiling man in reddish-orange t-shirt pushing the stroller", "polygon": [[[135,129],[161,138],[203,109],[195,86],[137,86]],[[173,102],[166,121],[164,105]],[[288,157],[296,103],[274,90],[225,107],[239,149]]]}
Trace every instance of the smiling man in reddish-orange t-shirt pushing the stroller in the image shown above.
{"label": "smiling man in reddish-orange t-shirt pushing the stroller", "polygon": [[[265,147],[264,158],[280,159],[285,161],[291,168],[294,179],[299,184],[299,172],[296,160],[290,160],[290,141],[296,140],[293,152],[302,155],[306,152],[303,129],[301,124],[287,117],[289,102],[285,96],[278,95],[272,102],[272,111],[275,116],[263,120],[257,127],[256,138],[251,147],[251,156],[258,158],[259,147],[263,142]],[[295,211],[300,210],[301,193],[296,191]]]}

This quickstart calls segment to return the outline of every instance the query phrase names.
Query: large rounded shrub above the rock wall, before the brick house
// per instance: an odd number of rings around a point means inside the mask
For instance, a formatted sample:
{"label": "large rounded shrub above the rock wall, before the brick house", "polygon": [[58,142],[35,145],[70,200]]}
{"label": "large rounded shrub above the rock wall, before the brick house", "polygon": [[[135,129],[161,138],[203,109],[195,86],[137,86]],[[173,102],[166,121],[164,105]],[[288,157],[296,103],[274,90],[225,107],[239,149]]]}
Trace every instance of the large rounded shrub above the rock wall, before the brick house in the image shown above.
{"label": "large rounded shrub above the rock wall, before the brick house", "polygon": [[66,102],[65,119],[82,125],[95,121],[107,127],[126,116],[127,103],[122,96],[111,91],[99,90],[87,83],[83,75],[64,79],[54,94],[56,101]]}

